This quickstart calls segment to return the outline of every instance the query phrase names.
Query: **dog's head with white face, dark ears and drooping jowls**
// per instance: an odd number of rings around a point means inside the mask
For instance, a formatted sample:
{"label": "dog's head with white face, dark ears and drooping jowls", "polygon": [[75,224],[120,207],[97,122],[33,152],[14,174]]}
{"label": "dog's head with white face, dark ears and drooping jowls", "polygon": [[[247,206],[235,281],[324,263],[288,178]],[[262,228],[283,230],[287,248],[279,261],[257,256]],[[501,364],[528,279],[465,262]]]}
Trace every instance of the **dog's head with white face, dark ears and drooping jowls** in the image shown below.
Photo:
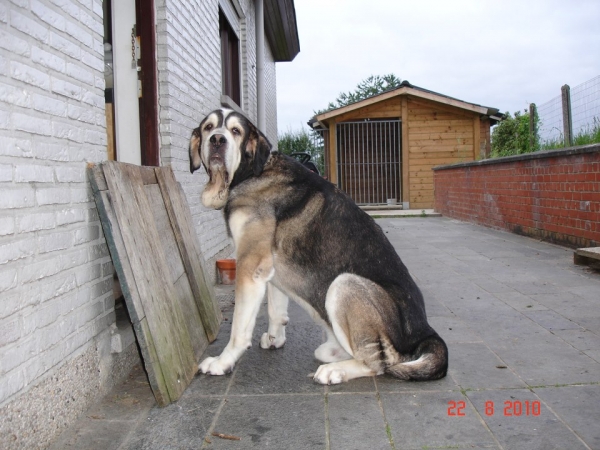
{"label": "dog's head with white face, dark ears and drooping jowls", "polygon": [[225,206],[229,189],[259,176],[270,152],[267,138],[243,115],[218,109],[206,116],[190,140],[190,172],[203,165],[209,176],[202,193],[204,206]]}

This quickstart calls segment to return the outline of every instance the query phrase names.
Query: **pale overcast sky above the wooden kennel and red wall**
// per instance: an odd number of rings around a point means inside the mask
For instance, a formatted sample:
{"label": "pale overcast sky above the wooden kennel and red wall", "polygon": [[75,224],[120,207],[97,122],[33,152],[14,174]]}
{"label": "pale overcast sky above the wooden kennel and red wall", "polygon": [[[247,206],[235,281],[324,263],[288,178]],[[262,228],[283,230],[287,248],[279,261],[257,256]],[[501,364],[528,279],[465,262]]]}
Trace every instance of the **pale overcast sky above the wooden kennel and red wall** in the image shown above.
{"label": "pale overcast sky above the wooden kennel and red wall", "polygon": [[277,64],[279,133],[370,75],[501,112],[600,75],[599,0],[296,0],[300,53]]}

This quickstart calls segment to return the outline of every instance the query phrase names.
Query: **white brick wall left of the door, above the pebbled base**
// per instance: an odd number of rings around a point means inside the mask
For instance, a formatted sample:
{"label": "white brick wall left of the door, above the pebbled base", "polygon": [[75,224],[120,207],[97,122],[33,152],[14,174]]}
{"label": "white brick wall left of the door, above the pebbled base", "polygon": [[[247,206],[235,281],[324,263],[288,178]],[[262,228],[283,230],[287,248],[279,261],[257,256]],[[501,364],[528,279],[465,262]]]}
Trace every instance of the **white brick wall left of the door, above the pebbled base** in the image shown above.
{"label": "white brick wall left of the door, above the pebbled base", "polygon": [[86,178],[106,159],[101,6],[0,4],[0,406],[114,321]]}

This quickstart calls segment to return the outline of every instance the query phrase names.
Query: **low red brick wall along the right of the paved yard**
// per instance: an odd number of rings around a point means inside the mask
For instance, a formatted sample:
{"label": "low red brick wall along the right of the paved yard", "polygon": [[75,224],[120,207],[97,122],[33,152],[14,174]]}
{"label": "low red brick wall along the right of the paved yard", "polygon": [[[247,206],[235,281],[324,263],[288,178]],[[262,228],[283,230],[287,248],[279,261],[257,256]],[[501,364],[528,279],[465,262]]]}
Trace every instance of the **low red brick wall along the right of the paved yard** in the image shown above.
{"label": "low red brick wall along the right of the paved yard", "polygon": [[600,246],[600,145],[436,167],[434,191],[447,217]]}

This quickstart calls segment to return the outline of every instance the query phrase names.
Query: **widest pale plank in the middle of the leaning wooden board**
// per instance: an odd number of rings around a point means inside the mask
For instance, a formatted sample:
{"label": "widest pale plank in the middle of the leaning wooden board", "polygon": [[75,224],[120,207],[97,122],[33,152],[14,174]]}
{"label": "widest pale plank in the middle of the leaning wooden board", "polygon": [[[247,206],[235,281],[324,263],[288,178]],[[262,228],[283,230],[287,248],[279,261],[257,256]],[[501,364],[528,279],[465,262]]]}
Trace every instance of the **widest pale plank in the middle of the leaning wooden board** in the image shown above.
{"label": "widest pale plank in the middle of the leaning wooden board", "polygon": [[129,164],[109,161],[103,164],[103,170],[135,284],[144,302],[148,329],[155,344],[155,366],[160,367],[164,378],[165,397],[175,401],[194,376],[196,361],[172,280],[168,277],[162,239],[151,215],[143,178],[140,169]]}

